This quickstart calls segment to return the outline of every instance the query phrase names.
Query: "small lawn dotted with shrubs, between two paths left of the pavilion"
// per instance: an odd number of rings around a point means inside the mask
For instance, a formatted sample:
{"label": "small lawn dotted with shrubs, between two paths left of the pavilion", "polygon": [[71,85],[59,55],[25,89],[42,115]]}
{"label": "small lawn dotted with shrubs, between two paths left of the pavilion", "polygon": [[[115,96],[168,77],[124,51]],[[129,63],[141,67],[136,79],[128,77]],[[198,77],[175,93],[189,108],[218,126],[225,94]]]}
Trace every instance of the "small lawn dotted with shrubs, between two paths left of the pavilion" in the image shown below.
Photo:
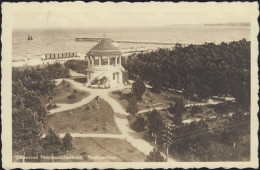
{"label": "small lawn dotted with shrubs, between two paths left of the pavilion", "polygon": [[53,97],[55,103],[77,103],[90,93],[76,89],[70,82],[63,81],[56,87],[57,93]]}

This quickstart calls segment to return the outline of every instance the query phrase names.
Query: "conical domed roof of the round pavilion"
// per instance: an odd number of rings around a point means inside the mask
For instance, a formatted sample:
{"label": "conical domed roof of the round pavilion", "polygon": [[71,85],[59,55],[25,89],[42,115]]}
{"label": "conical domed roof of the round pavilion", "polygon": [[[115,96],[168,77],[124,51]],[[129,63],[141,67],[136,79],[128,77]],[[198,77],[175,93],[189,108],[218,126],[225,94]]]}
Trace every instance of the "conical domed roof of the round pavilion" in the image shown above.
{"label": "conical domed roof of the round pavilion", "polygon": [[103,39],[87,53],[89,56],[116,56],[121,54],[122,52],[112,44],[111,39]]}

